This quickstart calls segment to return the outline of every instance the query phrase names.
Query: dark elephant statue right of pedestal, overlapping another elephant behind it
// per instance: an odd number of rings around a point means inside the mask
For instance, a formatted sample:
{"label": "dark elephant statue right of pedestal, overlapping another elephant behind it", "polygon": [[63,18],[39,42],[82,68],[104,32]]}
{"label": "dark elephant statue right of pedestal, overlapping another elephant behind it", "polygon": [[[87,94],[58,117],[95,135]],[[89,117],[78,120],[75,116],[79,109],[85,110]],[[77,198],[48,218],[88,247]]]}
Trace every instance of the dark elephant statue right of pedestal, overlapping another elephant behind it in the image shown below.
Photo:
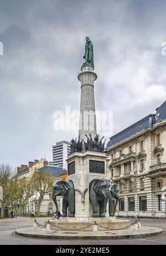
{"label": "dark elephant statue right of pedestal, overlapping another elephant behind it", "polygon": [[[90,184],[90,202],[94,218],[98,218],[98,216],[105,217],[108,199],[110,198],[110,185],[110,179],[106,178],[93,180]],[[98,204],[100,206],[99,215]]]}

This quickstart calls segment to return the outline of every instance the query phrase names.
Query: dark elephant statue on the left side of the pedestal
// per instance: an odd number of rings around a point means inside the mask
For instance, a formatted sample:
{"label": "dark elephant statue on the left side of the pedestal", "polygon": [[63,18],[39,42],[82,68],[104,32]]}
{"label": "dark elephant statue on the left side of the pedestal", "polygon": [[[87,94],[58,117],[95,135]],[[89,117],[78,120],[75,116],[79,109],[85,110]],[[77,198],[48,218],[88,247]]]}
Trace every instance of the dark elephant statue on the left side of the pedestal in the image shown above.
{"label": "dark elephant statue on the left side of the pedestal", "polygon": [[53,187],[53,201],[56,206],[56,211],[59,211],[56,196],[63,196],[63,214],[61,217],[67,216],[67,210],[69,206],[70,214],[68,217],[75,216],[75,189],[71,180],[59,180],[56,181]]}

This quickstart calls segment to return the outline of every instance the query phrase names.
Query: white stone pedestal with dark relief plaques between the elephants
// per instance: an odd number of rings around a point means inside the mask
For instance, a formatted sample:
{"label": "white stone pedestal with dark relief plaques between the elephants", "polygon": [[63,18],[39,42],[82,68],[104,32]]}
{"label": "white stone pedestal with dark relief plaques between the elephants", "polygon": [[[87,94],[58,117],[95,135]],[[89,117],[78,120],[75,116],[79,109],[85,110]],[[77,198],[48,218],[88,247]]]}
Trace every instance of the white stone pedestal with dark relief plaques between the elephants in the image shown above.
{"label": "white stone pedestal with dark relief plaques between the elephants", "polygon": [[[107,155],[101,152],[76,152],[68,157],[68,178],[75,188],[75,217],[92,217],[89,200],[89,185],[92,180],[107,178]],[[108,214],[108,206],[107,213]]]}

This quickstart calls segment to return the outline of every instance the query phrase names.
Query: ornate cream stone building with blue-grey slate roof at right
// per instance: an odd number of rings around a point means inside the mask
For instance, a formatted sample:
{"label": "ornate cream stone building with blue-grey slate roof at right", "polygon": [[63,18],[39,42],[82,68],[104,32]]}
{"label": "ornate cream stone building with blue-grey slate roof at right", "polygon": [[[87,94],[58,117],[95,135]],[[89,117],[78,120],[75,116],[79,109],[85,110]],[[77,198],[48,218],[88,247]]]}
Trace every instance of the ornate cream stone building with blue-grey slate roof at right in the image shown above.
{"label": "ornate cream stone building with blue-grey slate roof at right", "polygon": [[117,216],[166,217],[166,101],[107,144],[110,178],[118,184]]}

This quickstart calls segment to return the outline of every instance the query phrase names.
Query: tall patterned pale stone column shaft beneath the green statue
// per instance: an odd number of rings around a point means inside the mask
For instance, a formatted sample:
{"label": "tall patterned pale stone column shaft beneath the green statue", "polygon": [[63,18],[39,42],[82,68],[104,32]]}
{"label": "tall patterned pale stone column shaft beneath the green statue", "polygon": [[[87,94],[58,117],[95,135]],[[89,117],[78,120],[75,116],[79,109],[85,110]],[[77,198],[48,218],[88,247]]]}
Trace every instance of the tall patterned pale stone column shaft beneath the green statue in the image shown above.
{"label": "tall patterned pale stone column shaft beneath the green statue", "polygon": [[94,138],[96,136],[94,82],[97,79],[94,65],[84,63],[78,79],[81,82],[79,135],[81,139],[86,139],[85,134],[89,135],[90,132]]}

